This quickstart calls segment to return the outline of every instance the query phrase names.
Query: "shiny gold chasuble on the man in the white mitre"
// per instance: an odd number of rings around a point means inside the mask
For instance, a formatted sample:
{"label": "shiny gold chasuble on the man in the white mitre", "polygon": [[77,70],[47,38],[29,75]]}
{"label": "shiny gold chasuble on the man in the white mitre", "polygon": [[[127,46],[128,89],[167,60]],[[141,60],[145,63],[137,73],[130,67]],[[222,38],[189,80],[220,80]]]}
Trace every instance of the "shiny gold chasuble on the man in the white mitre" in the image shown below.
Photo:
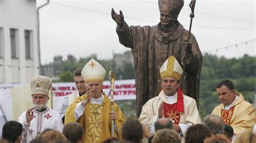
{"label": "shiny gold chasuble on the man in the white mitre", "polygon": [[[65,124],[72,121],[81,124],[84,128],[83,142],[102,142],[111,138],[110,99],[104,94],[102,104],[87,103],[81,115],[76,119],[75,110],[79,106],[79,103],[82,103],[85,99],[86,95],[77,97],[68,106],[65,115]],[[116,103],[114,103],[114,111],[117,112],[114,138],[122,139],[122,125],[124,124],[125,117]]]}

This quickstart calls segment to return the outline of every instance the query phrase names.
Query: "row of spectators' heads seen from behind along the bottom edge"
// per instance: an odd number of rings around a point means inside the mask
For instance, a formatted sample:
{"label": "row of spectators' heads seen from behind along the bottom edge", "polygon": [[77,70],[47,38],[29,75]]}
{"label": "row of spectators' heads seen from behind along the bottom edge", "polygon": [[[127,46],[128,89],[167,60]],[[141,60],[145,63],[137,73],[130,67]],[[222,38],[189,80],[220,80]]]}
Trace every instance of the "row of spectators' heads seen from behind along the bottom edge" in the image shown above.
{"label": "row of spectators' heads seen from behind along the bottom edge", "polygon": [[[183,138],[173,130],[173,124],[170,119],[161,118],[154,123],[155,134],[146,140],[144,135],[146,131],[145,126],[140,123],[137,117],[128,118],[122,126],[122,139],[107,138],[101,142],[182,142]],[[18,121],[8,121],[3,127],[3,139],[0,142],[21,142],[23,126]],[[76,122],[68,123],[64,126],[63,131],[57,131],[52,128],[46,128],[43,132],[39,133],[37,137],[30,140],[31,143],[44,143],[44,142],[63,142],[75,143],[84,142],[84,128]],[[240,143],[240,142],[256,142],[256,134],[252,131],[246,131],[237,136],[233,140],[234,132],[232,126],[224,124],[220,117],[216,115],[208,115],[203,124],[196,124],[188,127],[185,139],[183,142],[205,142],[205,143]]]}

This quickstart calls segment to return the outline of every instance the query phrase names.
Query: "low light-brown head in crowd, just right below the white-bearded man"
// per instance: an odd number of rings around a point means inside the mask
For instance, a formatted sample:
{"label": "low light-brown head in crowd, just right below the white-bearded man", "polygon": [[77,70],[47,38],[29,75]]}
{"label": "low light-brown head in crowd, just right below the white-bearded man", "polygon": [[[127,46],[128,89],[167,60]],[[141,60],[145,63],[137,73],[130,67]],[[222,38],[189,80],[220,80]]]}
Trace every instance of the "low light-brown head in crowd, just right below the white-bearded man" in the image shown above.
{"label": "low light-brown head in crowd, just right below the white-bearded man", "polygon": [[57,130],[48,131],[42,136],[47,142],[55,142],[59,139],[67,140],[65,135]]}

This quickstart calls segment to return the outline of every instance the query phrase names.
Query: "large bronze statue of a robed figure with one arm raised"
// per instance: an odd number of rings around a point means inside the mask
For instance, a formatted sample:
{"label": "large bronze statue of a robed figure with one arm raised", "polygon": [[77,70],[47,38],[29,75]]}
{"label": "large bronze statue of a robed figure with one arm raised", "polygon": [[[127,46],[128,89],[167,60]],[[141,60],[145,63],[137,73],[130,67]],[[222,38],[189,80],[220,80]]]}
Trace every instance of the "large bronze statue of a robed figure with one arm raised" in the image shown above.
{"label": "large bronze statue of a robed figure with one arm raised", "polygon": [[[161,80],[159,69],[173,55],[181,67],[186,67],[180,84],[183,94],[199,101],[199,80],[202,54],[193,34],[178,22],[177,18],[184,0],[159,0],[160,23],[155,26],[128,26],[120,10],[112,9],[117,23],[116,32],[120,44],[132,49],[136,70],[137,115],[142,106],[159,94]],[[190,41],[187,41],[190,35]]]}

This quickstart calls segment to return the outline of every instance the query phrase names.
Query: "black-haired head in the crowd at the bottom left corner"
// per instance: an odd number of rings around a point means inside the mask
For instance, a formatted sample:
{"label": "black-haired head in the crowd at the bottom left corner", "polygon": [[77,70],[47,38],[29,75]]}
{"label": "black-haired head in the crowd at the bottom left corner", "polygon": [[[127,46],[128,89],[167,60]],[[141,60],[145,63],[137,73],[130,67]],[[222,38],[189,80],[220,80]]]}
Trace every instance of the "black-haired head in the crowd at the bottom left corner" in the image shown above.
{"label": "black-haired head in the crowd at the bottom left corner", "polygon": [[18,121],[7,121],[3,126],[2,138],[11,142],[21,142],[22,127],[23,125],[18,123]]}

